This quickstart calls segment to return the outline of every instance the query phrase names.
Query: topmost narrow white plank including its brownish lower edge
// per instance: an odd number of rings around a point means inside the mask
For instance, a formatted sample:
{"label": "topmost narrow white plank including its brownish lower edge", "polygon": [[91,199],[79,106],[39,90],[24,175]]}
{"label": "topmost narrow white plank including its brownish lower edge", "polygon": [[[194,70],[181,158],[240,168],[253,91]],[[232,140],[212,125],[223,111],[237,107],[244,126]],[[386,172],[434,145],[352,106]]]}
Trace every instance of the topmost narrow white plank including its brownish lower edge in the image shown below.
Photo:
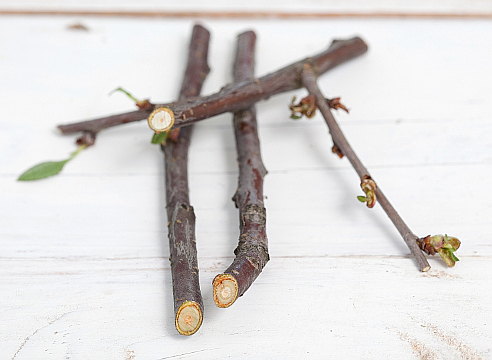
{"label": "topmost narrow white plank including its brownish lower edge", "polygon": [[106,14],[110,16],[213,16],[213,17],[251,17],[251,16],[474,16],[492,13],[492,6],[486,0],[378,0],[368,3],[363,0],[307,0],[299,3],[294,0],[248,2],[214,0],[206,4],[196,0],[162,2],[145,0],[138,3],[126,0],[87,0],[83,3],[76,0],[64,1],[32,1],[20,0],[11,2],[0,1],[0,13],[49,13],[67,15]]}

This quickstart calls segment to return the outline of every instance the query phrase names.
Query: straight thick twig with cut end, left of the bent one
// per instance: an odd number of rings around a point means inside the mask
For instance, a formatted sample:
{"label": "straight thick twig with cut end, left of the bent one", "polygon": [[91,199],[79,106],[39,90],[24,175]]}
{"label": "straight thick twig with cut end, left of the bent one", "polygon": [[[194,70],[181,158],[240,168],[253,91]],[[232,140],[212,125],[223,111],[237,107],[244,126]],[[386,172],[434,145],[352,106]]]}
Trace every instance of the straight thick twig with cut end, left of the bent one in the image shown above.
{"label": "straight thick twig with cut end, left of the bent one", "polygon": [[[209,72],[207,65],[210,33],[195,25],[188,65],[179,101],[197,96]],[[198,278],[195,214],[188,194],[188,148],[192,126],[182,129],[177,141],[161,145],[165,158],[166,208],[169,221],[169,249],[173,278],[175,325],[182,335],[192,335],[203,319],[203,299]]]}

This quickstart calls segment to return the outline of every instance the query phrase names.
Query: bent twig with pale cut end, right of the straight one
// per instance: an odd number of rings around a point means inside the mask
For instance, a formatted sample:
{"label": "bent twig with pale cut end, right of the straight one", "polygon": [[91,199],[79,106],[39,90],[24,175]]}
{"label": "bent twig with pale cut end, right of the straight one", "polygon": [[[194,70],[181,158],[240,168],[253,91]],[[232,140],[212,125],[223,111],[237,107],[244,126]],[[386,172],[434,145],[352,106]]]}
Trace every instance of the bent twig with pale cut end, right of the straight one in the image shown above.
{"label": "bent twig with pale cut end, right of the straight one", "polygon": [[[254,78],[256,35],[242,33],[237,39],[234,81]],[[266,236],[266,211],[263,206],[263,177],[267,171],[260,155],[256,109],[254,106],[234,113],[234,134],[239,163],[239,181],[233,201],[239,209],[240,236],[236,258],[213,281],[215,304],[229,307],[251,286],[269,260]]]}

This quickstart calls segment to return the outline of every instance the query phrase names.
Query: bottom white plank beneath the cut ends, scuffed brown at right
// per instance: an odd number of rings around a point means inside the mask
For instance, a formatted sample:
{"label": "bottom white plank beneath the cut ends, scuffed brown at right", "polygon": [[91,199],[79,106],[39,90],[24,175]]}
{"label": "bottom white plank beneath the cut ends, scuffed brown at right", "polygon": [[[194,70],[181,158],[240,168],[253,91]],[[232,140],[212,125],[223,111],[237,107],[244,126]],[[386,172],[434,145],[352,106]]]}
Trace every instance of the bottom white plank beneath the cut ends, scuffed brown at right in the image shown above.
{"label": "bottom white plank beneath the cut ends, scuffed brown at right", "polygon": [[[167,259],[2,259],[15,279],[0,279],[3,352],[19,360],[490,358],[490,258],[422,274],[405,258],[273,257],[225,310],[212,305],[210,286],[223,261],[200,261],[206,320],[183,339],[163,321],[172,317]],[[18,319],[30,321],[8,325]]]}

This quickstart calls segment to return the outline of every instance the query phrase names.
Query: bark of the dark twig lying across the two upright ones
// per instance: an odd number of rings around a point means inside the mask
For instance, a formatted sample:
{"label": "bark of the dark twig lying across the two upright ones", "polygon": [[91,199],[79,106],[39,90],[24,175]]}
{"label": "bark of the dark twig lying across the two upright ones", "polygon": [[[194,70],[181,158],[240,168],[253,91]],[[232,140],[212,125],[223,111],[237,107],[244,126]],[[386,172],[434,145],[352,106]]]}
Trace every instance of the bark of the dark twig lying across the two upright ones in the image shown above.
{"label": "bark of the dark twig lying across the two upright ones", "polygon": [[[227,85],[216,94],[189,99],[186,103],[168,103],[154,105],[154,107],[169,107],[176,119],[174,127],[190,125],[215,115],[250,107],[272,95],[302,87],[301,73],[305,64],[310,64],[316,74],[321,75],[366,51],[367,45],[358,37],[350,40],[335,40],[326,51],[259,79]],[[144,120],[149,114],[150,111],[137,110],[95,120],[59,125],[58,129],[62,134],[79,131],[97,133],[111,126]]]}

